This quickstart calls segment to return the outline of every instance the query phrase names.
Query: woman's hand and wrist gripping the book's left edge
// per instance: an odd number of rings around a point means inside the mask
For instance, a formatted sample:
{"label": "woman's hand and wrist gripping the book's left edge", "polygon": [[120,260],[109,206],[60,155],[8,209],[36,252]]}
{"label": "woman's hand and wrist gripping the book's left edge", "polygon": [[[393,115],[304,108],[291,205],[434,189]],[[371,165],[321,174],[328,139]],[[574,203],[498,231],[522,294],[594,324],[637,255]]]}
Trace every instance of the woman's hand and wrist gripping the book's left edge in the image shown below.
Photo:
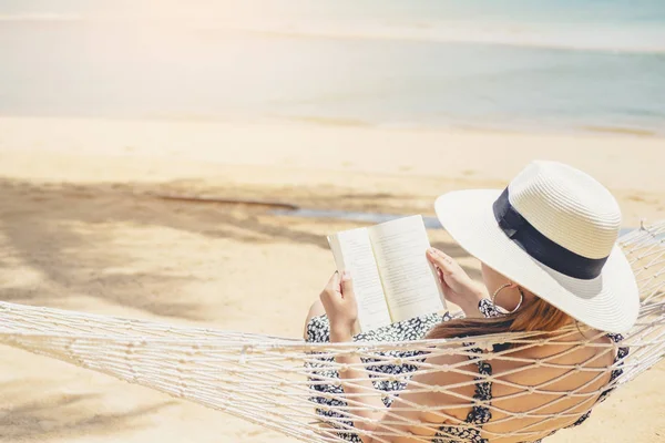
{"label": "woman's hand and wrist gripping the book's left edge", "polygon": [[358,320],[358,303],[348,271],[332,274],[319,296],[330,321],[330,341],[348,341],[354,336]]}

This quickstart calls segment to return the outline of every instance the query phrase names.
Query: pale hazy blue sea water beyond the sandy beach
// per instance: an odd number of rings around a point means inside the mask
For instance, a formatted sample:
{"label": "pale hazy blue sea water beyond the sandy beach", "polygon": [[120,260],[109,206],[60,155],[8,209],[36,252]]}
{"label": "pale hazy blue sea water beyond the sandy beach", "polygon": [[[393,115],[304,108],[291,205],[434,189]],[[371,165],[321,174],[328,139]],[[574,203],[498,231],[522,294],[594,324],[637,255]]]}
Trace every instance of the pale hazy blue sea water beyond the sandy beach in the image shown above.
{"label": "pale hazy blue sea water beyond the sandy beach", "polygon": [[0,114],[665,134],[663,0],[2,0]]}

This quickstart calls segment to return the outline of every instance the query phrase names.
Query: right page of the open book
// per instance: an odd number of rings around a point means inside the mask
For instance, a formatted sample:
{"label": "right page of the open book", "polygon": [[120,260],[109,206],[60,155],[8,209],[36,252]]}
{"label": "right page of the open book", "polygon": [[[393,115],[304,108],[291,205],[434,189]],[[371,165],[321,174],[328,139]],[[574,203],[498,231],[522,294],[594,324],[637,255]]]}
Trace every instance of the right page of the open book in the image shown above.
{"label": "right page of the open book", "polygon": [[439,277],[424,255],[430,244],[422,217],[399,218],[368,230],[392,321],[442,310]]}

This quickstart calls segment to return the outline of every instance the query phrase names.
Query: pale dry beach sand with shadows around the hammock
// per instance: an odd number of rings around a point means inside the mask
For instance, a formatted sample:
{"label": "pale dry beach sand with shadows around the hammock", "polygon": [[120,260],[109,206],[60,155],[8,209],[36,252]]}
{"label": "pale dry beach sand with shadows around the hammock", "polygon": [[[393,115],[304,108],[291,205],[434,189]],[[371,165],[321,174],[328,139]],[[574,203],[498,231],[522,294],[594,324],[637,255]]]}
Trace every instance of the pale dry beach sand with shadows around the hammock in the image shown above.
{"label": "pale dry beach sand with shadows around the hammock", "polygon": [[[532,158],[589,171],[626,226],[665,217],[665,142],[369,127],[0,119],[0,299],[298,337],[347,222],[165,202],[154,193],[432,215],[439,193],[502,187]],[[475,265],[442,231],[432,243]],[[665,441],[665,364],[549,440]],[[0,353],[0,441],[290,441],[30,353]]]}

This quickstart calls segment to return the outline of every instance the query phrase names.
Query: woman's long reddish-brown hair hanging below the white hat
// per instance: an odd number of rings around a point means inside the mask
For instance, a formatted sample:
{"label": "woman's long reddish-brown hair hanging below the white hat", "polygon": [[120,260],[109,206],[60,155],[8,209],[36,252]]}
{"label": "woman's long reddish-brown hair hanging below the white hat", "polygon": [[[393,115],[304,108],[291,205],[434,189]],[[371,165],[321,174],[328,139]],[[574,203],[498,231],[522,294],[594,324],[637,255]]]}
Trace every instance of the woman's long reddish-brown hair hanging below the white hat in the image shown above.
{"label": "woman's long reddish-brown hair hanging below the white hat", "polygon": [[545,300],[534,297],[514,312],[490,318],[463,318],[437,324],[427,334],[428,339],[474,337],[502,332],[553,332],[571,318]]}

